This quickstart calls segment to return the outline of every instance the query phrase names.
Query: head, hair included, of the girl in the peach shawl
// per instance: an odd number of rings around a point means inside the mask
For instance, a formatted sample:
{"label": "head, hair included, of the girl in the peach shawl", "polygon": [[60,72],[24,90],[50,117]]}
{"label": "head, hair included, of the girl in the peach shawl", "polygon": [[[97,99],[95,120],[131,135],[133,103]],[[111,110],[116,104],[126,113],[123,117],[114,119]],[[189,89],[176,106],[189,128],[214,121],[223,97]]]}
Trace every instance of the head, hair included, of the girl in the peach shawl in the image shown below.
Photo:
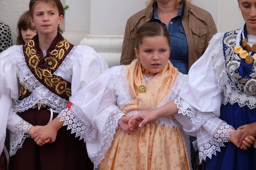
{"label": "head, hair included, of the girl in the peach shawl", "polygon": [[166,67],[170,45],[170,34],[159,23],[145,23],[135,34],[135,54],[142,67],[151,73],[158,73]]}

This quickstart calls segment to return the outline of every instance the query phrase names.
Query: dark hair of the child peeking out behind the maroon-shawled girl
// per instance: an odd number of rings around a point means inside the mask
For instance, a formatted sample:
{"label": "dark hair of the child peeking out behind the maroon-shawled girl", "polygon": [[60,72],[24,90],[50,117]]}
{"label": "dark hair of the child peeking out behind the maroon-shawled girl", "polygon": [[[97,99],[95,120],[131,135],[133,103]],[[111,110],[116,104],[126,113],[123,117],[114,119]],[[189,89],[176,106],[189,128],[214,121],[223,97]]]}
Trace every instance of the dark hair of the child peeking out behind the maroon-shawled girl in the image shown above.
{"label": "dark hair of the child peeking out behind the maroon-shawled girl", "polygon": [[32,26],[31,22],[29,21],[30,13],[29,11],[24,12],[18,22],[17,22],[17,31],[18,31],[18,36],[17,36],[17,41],[16,45],[23,45],[25,42],[23,41],[22,35],[21,35],[21,29],[26,28],[26,29],[35,29],[35,27]]}

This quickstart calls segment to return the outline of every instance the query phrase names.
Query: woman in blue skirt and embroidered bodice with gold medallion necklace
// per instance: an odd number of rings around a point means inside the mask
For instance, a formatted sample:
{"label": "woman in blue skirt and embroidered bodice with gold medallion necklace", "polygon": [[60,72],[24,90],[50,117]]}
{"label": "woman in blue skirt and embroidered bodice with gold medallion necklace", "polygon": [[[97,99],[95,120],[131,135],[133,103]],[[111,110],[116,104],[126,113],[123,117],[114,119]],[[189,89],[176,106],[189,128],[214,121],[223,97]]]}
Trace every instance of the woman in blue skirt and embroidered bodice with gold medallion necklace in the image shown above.
{"label": "woman in blue skirt and embroidered bodice with gold medallion necklace", "polygon": [[[175,99],[180,113],[175,118],[186,133],[197,136],[200,161],[206,161],[206,170],[256,167],[256,0],[238,3],[244,26],[215,34]],[[169,109],[175,104],[169,103]],[[158,119],[170,114],[160,109],[147,117],[137,115],[129,123],[134,125],[137,120],[143,127],[156,115]],[[237,130],[227,133],[230,125]]]}

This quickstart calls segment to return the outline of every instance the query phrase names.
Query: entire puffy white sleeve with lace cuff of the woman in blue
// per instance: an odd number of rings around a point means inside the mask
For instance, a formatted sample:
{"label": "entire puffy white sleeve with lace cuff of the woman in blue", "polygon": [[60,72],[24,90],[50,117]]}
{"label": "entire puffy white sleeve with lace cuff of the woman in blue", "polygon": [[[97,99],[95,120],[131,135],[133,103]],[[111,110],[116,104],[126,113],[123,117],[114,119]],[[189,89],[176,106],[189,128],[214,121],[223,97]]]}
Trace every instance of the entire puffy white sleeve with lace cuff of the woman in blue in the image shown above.
{"label": "entire puffy white sleeve with lace cuff of the woman in blue", "polygon": [[218,117],[223,99],[219,77],[225,74],[221,41],[223,33],[215,34],[204,55],[189,70],[188,81],[175,99],[179,114],[175,118],[183,130],[197,137],[200,161],[216,155],[225,146],[232,127]]}

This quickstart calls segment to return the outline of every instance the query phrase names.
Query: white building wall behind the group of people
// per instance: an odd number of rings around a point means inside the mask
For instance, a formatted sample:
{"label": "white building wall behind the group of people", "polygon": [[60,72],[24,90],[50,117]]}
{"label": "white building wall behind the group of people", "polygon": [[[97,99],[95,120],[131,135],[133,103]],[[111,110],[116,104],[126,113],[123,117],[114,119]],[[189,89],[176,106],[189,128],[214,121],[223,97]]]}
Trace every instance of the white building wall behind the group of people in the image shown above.
{"label": "white building wall behind the group of people", "polygon": [[[145,0],[61,0],[68,4],[64,37],[74,45],[89,45],[111,65],[117,65],[128,18],[145,8]],[[236,0],[192,0],[212,14],[218,31],[241,27],[244,20]],[[16,24],[29,0],[0,0],[0,20],[7,23],[16,42]]]}

